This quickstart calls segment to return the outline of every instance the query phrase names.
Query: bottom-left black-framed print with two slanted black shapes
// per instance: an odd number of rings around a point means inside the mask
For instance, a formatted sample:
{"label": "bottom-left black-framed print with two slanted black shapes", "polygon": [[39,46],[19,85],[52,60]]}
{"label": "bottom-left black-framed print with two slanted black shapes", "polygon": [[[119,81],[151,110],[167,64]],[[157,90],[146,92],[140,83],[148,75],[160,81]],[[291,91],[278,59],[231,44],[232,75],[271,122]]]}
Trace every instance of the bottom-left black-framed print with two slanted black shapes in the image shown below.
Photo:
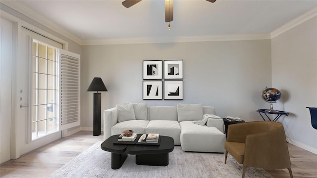
{"label": "bottom-left black-framed print with two slanted black shapes", "polygon": [[162,99],[162,81],[143,81],[143,99]]}

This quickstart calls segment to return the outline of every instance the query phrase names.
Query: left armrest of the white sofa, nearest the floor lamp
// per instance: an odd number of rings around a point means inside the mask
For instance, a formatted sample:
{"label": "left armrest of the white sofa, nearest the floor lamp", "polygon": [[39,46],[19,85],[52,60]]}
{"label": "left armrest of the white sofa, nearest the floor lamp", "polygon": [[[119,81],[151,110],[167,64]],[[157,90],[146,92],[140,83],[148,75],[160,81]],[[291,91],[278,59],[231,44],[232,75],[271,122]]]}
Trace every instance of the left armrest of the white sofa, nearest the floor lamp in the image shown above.
{"label": "left armrest of the white sofa, nearest the floor lamp", "polygon": [[104,111],[104,140],[111,136],[111,128],[118,123],[118,110],[113,107]]}

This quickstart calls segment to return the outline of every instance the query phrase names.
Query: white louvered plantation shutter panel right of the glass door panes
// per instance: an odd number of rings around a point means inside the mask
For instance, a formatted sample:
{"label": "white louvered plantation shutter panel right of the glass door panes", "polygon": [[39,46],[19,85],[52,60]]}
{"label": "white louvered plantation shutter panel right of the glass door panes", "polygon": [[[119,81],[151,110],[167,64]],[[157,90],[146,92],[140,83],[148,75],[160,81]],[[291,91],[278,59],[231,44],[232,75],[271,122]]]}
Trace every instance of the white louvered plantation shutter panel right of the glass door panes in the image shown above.
{"label": "white louvered plantation shutter panel right of the glass door panes", "polygon": [[59,49],[59,130],[80,125],[80,55]]}

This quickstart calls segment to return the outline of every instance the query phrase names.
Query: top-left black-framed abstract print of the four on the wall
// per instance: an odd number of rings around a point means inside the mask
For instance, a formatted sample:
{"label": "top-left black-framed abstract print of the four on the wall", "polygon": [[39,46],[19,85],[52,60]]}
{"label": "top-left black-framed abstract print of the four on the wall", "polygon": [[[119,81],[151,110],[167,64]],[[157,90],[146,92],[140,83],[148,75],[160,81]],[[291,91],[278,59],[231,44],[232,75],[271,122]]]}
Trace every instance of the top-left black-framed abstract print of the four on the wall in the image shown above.
{"label": "top-left black-framed abstract print of the four on the wall", "polygon": [[143,79],[162,79],[163,61],[162,60],[144,60],[143,61]]}

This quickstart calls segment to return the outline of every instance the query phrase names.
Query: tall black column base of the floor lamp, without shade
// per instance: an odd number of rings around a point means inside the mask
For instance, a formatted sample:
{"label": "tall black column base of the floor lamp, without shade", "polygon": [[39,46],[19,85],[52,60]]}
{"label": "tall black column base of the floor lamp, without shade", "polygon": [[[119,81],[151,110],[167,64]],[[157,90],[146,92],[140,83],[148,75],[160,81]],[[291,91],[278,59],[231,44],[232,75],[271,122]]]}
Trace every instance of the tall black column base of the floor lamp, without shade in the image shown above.
{"label": "tall black column base of the floor lamp, without shade", "polygon": [[101,93],[94,93],[94,136],[101,134]]}

